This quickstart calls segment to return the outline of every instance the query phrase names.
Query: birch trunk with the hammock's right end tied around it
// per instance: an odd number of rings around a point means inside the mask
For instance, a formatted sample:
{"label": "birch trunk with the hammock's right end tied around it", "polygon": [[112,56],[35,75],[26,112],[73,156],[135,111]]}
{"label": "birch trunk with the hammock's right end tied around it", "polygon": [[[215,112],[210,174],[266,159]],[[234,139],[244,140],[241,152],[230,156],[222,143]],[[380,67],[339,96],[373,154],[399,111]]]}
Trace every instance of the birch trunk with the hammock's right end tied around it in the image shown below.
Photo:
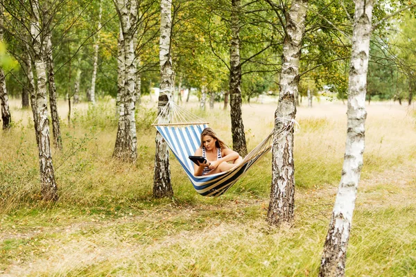
{"label": "birch trunk with the hammock's right end tied around it", "polygon": [[[304,36],[307,0],[292,1],[286,17],[280,73],[279,102],[275,112],[275,134],[285,124],[283,118],[295,119],[295,95],[299,85],[299,64]],[[284,137],[274,136],[272,144],[272,188],[267,221],[272,225],[293,220],[295,208],[295,163],[293,161],[293,132]]]}

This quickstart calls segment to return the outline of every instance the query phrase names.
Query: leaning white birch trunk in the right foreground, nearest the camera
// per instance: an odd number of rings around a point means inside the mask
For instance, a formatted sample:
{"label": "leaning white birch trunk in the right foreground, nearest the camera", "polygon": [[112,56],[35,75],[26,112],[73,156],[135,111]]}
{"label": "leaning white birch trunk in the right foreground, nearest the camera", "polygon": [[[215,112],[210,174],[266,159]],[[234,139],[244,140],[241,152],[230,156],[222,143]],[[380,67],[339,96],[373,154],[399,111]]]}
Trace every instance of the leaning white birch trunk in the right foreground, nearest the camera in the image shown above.
{"label": "leaning white birch trunk in the right foreground, nearest the camera", "polygon": [[363,167],[365,92],[372,33],[372,0],[356,0],[349,66],[347,141],[338,193],[322,254],[320,276],[344,276],[355,200]]}

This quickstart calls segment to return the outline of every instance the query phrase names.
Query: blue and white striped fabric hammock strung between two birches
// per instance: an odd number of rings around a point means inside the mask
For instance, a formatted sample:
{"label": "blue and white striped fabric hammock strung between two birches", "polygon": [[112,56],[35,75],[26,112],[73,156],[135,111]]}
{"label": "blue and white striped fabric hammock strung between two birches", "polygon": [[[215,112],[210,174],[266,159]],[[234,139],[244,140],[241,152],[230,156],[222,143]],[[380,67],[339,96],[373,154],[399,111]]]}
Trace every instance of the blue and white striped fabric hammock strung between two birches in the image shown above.
{"label": "blue and white striped fabric hammock strung between two birches", "polygon": [[[155,125],[157,131],[162,135],[173,154],[175,154],[177,161],[184,168],[193,188],[203,196],[219,196],[225,193],[236,181],[239,181],[254,163],[259,161],[272,148],[273,132],[268,134],[266,139],[248,153],[243,162],[238,166],[214,175],[194,176],[193,162],[188,156],[195,154],[195,151],[200,147],[200,134],[209,123],[176,105],[170,97],[156,121],[157,123],[153,125]],[[278,135],[290,132],[294,123],[294,120],[284,120],[284,127],[279,131]]]}

